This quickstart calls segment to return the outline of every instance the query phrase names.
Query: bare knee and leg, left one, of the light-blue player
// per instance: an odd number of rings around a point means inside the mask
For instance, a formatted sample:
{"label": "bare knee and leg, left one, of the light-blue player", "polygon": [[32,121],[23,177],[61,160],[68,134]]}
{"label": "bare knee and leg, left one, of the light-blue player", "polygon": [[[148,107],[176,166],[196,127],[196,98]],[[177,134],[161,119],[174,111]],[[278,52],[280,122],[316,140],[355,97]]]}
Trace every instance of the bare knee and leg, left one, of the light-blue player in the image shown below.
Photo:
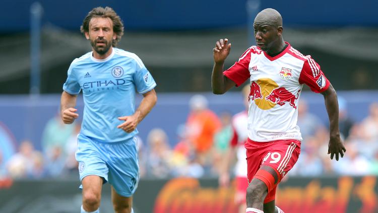
{"label": "bare knee and leg, left one, of the light-blue player", "polygon": [[85,211],[96,211],[100,207],[102,182],[102,178],[96,175],[83,178],[83,208]]}

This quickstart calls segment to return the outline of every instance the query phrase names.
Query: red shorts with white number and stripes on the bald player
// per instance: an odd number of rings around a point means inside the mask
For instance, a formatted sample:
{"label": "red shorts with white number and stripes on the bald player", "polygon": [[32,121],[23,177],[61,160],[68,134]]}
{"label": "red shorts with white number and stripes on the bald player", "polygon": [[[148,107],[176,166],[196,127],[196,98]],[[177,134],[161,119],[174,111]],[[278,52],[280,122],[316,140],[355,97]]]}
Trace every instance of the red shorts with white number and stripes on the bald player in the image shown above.
{"label": "red shorts with white number and stripes on the bald player", "polygon": [[[276,140],[270,142],[256,142],[250,139],[245,143],[247,149],[247,178],[248,182],[255,177],[262,165],[275,169],[280,175],[279,181],[293,168],[300,153],[300,141]],[[259,180],[262,180],[258,178]],[[266,183],[265,180],[262,180]],[[277,182],[273,187],[268,186],[268,195],[264,203],[275,199]]]}

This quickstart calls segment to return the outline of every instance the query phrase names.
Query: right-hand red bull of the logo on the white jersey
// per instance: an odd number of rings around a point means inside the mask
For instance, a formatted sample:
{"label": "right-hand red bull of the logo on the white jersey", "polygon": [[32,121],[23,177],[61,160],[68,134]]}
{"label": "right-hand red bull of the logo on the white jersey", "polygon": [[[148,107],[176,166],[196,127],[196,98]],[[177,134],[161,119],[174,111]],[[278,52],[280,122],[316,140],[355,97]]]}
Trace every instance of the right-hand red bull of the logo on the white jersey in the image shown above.
{"label": "right-hand red bull of the logo on the white jersey", "polygon": [[284,105],[285,102],[288,102],[291,107],[297,109],[295,100],[298,99],[299,92],[300,90],[298,90],[297,96],[295,97],[295,95],[289,92],[285,87],[279,87],[274,89],[267,97],[265,97],[265,99],[281,106]]}

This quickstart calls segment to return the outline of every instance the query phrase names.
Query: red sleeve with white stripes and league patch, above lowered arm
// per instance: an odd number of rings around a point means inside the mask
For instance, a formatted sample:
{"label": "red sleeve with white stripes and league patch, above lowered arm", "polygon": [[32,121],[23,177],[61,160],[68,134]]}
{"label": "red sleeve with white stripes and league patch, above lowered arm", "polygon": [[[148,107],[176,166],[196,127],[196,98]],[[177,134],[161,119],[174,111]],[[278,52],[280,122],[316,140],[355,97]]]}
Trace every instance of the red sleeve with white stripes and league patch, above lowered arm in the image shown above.
{"label": "red sleeve with white stripes and league patch, above lowered arm", "polygon": [[330,81],[326,78],[318,63],[307,57],[304,61],[299,75],[299,83],[306,84],[314,92],[324,92],[330,86]]}

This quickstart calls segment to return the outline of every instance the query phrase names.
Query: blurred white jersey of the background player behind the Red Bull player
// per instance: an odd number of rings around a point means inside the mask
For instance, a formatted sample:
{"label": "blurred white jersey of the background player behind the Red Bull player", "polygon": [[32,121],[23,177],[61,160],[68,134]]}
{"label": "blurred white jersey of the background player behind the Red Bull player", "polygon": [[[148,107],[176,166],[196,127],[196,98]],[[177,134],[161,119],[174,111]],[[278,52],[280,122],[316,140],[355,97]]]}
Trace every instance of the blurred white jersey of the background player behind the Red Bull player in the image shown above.
{"label": "blurred white jersey of the background player behind the Red Bull player", "polygon": [[236,177],[247,177],[246,149],[244,143],[248,138],[248,113],[240,112],[232,117],[233,137],[230,141],[231,146],[236,146],[237,162],[235,165]]}

